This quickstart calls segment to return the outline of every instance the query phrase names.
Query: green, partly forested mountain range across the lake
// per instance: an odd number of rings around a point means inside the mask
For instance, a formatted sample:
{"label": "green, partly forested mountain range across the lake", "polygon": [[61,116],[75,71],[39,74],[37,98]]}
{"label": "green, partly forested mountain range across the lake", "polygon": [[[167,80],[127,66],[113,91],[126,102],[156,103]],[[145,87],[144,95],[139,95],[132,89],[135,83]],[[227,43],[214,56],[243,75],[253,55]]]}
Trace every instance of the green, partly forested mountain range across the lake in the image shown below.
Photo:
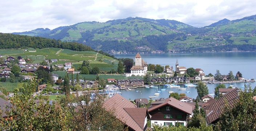
{"label": "green, partly forested mountain range across the lake", "polygon": [[[246,48],[241,50],[240,47],[244,47],[244,44],[256,44],[255,21],[256,15],[232,21],[223,19],[209,26],[195,28],[175,20],[128,17],[107,22],[81,22],[53,30],[39,28],[14,34],[75,41],[111,54],[248,51]],[[229,46],[233,48],[228,48]]]}

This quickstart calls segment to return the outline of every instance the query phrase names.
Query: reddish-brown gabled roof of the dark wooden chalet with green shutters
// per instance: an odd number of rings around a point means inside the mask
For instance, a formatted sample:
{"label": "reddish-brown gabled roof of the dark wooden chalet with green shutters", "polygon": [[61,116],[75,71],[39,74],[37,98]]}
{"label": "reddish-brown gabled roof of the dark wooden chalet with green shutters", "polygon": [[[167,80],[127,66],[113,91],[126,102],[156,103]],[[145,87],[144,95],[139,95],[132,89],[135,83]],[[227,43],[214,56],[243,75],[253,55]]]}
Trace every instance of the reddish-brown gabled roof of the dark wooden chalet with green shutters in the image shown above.
{"label": "reddish-brown gabled roof of the dark wooden chalet with green shutters", "polygon": [[148,111],[151,112],[153,110],[156,110],[160,107],[163,107],[165,105],[170,105],[180,111],[183,111],[184,113],[187,113],[187,114],[192,114],[192,110],[193,110],[193,106],[192,105],[189,105],[188,103],[184,103],[184,102],[181,102],[179,100],[176,100],[175,98],[167,98],[163,103],[157,105],[157,106],[154,106],[152,108],[150,108]]}

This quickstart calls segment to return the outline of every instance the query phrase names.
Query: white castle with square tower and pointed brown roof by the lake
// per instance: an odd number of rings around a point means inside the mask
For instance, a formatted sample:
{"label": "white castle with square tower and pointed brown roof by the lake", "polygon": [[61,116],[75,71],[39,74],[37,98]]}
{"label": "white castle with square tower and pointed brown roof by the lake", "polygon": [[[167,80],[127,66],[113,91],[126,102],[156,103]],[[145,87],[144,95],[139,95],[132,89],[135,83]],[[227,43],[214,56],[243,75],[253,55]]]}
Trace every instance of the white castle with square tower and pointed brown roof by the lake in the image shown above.
{"label": "white castle with square tower and pointed brown roof by the lake", "polygon": [[147,73],[147,62],[145,62],[139,53],[135,56],[135,65],[131,67],[131,73],[126,73],[127,76],[144,76]]}

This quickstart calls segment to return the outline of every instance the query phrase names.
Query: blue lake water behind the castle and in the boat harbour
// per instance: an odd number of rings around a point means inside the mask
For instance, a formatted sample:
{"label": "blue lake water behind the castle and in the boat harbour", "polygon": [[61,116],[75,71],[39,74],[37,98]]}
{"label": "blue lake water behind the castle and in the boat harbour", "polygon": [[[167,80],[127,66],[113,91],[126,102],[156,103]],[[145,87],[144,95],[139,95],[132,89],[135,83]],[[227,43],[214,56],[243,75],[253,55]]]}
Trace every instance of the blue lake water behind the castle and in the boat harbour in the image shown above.
{"label": "blue lake water behind the castle and in the boat harbour", "polygon": [[[132,58],[134,59],[136,54],[115,54],[116,58]],[[160,64],[162,66],[170,65],[175,69],[176,59],[178,59],[179,67],[184,66],[186,68],[193,67],[203,69],[204,73],[216,73],[219,70],[222,75],[227,75],[229,71],[233,72],[233,75],[240,71],[245,79],[255,79],[256,76],[256,52],[214,52],[214,53],[174,53],[174,54],[140,54],[142,59],[144,59],[147,64]],[[241,88],[244,84],[248,83],[235,83],[232,84]],[[227,87],[230,84],[225,84]],[[182,85],[181,85],[182,86]],[[214,88],[218,84],[208,84],[209,93],[212,93]],[[252,88],[256,86],[255,82],[251,83]],[[160,86],[160,89],[163,85]],[[178,88],[166,88],[162,91],[157,98],[168,98],[168,91],[174,91],[180,93],[185,93],[188,97],[196,98],[197,91],[195,87],[186,87],[186,90],[178,90]],[[159,89],[159,88],[158,88]],[[242,88],[243,89],[243,88]],[[136,98],[147,98],[149,96],[154,96],[157,93],[156,88],[137,88],[139,92],[119,90],[122,92],[122,96],[127,100],[134,100]],[[190,91],[191,93],[186,93]]]}

